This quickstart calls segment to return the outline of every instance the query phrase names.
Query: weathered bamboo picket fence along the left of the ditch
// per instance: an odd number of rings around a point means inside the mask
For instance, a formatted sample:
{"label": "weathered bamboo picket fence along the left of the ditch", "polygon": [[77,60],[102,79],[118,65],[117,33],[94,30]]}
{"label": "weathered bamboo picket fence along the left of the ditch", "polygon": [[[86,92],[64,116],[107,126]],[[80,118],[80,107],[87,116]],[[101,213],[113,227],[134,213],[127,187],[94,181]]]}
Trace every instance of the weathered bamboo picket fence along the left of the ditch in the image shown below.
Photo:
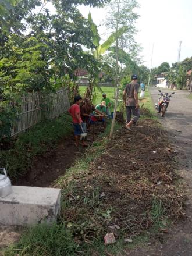
{"label": "weathered bamboo picket fence along the left of the ditch", "polygon": [[41,122],[42,118],[56,118],[69,108],[67,90],[62,88],[56,93],[27,93],[20,102],[10,102],[16,111],[17,120],[12,124],[11,136],[22,133]]}

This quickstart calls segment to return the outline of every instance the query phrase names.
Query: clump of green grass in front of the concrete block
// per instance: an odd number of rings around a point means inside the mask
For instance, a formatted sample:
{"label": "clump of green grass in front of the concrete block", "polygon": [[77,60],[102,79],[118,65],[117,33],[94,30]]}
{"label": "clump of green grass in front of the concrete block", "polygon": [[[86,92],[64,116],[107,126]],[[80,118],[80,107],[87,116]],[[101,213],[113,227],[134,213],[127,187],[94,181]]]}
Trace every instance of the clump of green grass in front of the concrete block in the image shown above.
{"label": "clump of green grass in front of the concrete block", "polygon": [[65,224],[41,224],[27,230],[18,244],[5,251],[5,256],[73,256],[77,247]]}

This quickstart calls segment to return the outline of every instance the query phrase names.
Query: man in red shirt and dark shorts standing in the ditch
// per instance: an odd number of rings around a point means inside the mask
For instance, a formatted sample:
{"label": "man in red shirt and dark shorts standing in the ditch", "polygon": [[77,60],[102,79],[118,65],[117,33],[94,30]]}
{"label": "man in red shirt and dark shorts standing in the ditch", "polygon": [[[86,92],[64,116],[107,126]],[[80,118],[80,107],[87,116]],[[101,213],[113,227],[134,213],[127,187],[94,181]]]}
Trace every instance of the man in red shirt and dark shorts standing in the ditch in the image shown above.
{"label": "man in red shirt and dark shorts standing in the ditch", "polygon": [[[80,116],[80,106],[79,106],[81,103],[81,100],[82,100],[81,96],[74,97],[74,104],[68,110],[73,119],[74,139],[75,139],[74,144],[76,145],[76,147],[79,146],[79,136],[81,133],[83,133],[83,130],[81,129],[82,119]],[[82,141],[82,146],[87,147],[87,144],[84,141]]]}

